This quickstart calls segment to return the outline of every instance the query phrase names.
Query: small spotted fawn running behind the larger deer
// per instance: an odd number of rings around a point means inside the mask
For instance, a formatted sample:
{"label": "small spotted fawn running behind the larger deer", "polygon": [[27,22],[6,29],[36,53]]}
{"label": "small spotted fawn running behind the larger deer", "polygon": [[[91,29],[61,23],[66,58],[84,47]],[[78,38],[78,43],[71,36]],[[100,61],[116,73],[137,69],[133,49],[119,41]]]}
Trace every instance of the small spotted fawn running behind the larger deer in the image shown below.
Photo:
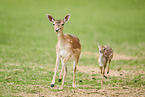
{"label": "small spotted fawn running behind the larger deer", "polygon": [[108,63],[108,69],[107,69],[107,74],[109,73],[109,66],[111,59],[113,58],[113,50],[110,46],[100,46],[98,45],[99,48],[99,59],[98,63],[100,64],[100,70],[102,74],[102,81],[101,84],[103,84],[103,77],[107,78],[105,75],[105,68]]}

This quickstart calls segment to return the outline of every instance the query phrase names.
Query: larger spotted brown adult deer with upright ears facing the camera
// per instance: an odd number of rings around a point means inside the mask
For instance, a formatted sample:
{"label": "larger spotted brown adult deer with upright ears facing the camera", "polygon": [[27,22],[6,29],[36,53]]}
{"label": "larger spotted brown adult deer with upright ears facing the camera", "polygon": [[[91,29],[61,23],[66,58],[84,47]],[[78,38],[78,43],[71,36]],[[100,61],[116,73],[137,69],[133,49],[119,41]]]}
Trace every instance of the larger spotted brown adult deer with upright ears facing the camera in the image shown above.
{"label": "larger spotted brown adult deer with upright ears facing the camera", "polygon": [[81,44],[80,40],[70,34],[63,34],[63,27],[66,22],[69,21],[70,14],[66,15],[63,20],[55,20],[52,16],[46,15],[48,20],[53,23],[54,26],[54,31],[57,34],[58,37],[58,42],[56,44],[56,65],[54,69],[54,76],[51,82],[51,87],[54,87],[55,84],[55,77],[56,77],[56,72],[58,70],[58,65],[61,59],[62,63],[62,69],[59,74],[59,82],[62,80],[62,73],[64,69],[64,74],[63,74],[63,81],[62,81],[62,86],[60,89],[63,89],[66,73],[67,73],[67,66],[66,62],[69,60],[73,60],[74,66],[73,66],[73,87],[76,87],[75,84],[75,75],[76,75],[76,66],[79,62],[79,57],[81,53]]}

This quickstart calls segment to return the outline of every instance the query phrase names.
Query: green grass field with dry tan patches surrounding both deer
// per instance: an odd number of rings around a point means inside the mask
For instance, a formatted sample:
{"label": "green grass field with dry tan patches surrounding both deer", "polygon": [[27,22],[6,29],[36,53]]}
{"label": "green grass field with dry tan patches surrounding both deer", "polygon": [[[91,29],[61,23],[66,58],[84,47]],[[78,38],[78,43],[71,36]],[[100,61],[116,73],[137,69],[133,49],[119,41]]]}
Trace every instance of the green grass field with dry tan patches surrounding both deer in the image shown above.
{"label": "green grass field with dry tan patches surrounding both deer", "polygon": [[[144,0],[0,0],[0,96],[145,96],[144,5]],[[57,36],[46,14],[56,19],[71,14],[64,33],[76,35],[82,45],[77,88],[71,62],[64,90],[58,81],[50,88]],[[104,85],[97,42],[114,50]]]}

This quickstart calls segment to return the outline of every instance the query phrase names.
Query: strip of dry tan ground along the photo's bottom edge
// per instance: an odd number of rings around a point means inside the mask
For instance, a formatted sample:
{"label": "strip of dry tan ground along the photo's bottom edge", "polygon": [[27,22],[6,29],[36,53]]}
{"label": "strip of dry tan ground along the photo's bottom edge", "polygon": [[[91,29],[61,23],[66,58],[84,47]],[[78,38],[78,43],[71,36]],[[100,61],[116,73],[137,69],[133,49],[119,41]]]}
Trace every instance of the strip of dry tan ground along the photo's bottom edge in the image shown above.
{"label": "strip of dry tan ground along the photo's bottom edge", "polygon": [[129,87],[103,86],[103,89],[64,89],[63,91],[53,91],[50,88],[41,87],[38,93],[16,93],[15,96],[27,97],[144,97],[145,89]]}

